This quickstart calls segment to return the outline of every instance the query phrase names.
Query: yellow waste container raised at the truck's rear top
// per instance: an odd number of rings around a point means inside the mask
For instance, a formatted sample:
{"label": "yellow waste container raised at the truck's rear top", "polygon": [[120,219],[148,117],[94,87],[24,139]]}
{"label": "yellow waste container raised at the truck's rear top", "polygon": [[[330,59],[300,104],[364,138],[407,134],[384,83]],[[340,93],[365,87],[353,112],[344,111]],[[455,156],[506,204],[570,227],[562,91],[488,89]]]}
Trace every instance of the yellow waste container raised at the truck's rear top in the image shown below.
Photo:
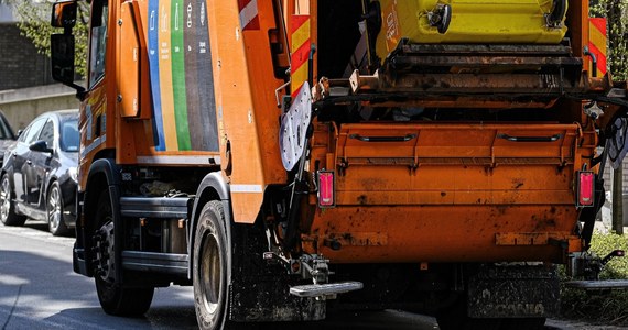
{"label": "yellow waste container raised at the truck's rear top", "polygon": [[377,54],[411,43],[557,44],[567,31],[567,1],[380,0]]}

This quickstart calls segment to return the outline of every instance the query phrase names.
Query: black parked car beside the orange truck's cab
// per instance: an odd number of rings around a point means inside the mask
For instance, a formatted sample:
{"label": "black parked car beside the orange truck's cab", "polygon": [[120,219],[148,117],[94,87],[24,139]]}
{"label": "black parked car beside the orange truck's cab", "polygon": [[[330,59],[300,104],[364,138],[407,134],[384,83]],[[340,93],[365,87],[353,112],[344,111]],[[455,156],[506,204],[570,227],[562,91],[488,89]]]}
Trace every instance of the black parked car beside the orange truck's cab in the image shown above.
{"label": "black parked car beside the orange truck's cab", "polygon": [[78,110],[43,113],[7,148],[0,182],[2,223],[43,220],[54,235],[75,226],[77,123]]}

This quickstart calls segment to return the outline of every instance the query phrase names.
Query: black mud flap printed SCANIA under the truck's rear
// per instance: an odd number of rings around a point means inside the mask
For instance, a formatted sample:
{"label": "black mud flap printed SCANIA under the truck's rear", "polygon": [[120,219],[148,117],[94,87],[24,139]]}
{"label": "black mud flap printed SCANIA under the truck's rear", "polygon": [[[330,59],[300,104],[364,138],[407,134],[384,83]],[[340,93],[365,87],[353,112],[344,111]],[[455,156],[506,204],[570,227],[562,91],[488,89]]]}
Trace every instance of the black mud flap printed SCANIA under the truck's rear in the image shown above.
{"label": "black mud flap printed SCANIA under the truck's rear", "polygon": [[555,267],[486,266],[468,282],[472,318],[545,318],[560,309]]}

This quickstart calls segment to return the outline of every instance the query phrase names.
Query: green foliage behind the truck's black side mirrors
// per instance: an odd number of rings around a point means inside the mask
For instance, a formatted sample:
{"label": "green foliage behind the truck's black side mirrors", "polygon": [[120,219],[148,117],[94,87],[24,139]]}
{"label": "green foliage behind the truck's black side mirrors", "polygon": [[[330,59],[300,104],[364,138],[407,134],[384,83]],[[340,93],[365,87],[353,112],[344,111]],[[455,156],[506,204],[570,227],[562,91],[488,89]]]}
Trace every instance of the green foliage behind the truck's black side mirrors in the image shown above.
{"label": "green foliage behind the truck's black side mirrors", "polygon": [[[52,12],[52,3],[55,1],[22,1],[8,0],[13,7],[13,13],[20,21],[22,35],[30,38],[37,51],[50,57],[51,34],[63,33],[62,29],[52,28],[50,18]],[[78,13],[76,26],[73,30],[76,44],[76,73],[85,76],[87,72],[87,31],[88,31],[89,4],[87,1],[78,2]]]}

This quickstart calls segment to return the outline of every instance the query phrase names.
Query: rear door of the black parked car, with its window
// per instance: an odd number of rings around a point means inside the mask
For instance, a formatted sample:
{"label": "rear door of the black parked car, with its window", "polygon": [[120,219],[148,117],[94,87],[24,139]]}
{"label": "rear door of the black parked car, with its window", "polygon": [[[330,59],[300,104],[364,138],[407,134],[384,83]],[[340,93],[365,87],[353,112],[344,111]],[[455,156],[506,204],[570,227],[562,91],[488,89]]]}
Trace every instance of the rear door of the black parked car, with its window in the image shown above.
{"label": "rear door of the black parked car, with its window", "polygon": [[26,184],[29,182],[31,172],[31,161],[29,161],[31,150],[29,145],[39,136],[42,127],[46,122],[45,118],[35,119],[26,129],[22,132],[15,144],[15,148],[10,154],[12,170],[9,170],[9,175],[12,175],[13,186],[15,190],[15,202],[26,204],[29,200]]}

